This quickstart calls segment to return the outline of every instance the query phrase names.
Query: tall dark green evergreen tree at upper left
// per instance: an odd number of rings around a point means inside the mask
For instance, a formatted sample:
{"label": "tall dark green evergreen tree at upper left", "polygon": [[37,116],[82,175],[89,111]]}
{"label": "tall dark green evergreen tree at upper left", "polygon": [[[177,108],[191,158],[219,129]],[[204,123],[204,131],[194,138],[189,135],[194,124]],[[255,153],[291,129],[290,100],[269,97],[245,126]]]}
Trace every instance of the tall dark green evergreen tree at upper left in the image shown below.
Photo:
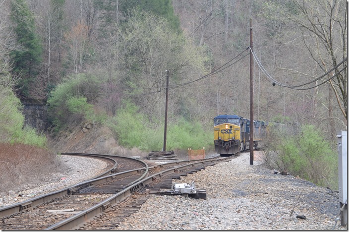
{"label": "tall dark green evergreen tree at upper left", "polygon": [[42,44],[35,32],[34,14],[28,4],[24,0],[11,0],[10,12],[13,31],[20,46],[10,54],[14,62],[12,72],[24,78],[20,87],[22,92],[28,94],[27,83],[37,74],[36,66],[42,59]]}

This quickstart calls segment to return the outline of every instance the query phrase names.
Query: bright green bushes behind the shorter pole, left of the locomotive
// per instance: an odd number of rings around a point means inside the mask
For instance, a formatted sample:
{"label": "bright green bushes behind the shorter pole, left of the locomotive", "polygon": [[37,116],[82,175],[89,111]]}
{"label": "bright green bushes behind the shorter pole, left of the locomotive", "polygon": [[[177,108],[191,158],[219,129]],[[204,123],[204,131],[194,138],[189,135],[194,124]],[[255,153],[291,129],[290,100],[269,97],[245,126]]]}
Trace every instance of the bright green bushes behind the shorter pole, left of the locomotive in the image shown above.
{"label": "bright green bushes behind the shorter pole, left of the locomotive", "polygon": [[[151,124],[130,102],[124,103],[106,125],[114,131],[121,146],[137,147],[143,151],[161,151],[163,148],[164,127]],[[202,149],[212,143],[212,133],[206,132],[199,122],[179,119],[168,124],[166,150]]]}

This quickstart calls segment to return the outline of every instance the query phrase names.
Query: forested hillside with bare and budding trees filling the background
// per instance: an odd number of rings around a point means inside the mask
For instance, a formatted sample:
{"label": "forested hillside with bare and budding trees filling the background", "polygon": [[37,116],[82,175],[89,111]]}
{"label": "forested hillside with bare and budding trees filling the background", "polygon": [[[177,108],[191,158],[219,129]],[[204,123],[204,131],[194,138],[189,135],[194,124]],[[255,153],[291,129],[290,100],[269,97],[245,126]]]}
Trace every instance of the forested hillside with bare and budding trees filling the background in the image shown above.
{"label": "forested hillside with bare and budding trees filling the background", "polygon": [[168,150],[209,148],[214,116],[249,117],[250,19],[254,119],[291,128],[283,162],[314,152],[306,133],[333,161],[347,130],[343,0],[2,0],[0,18],[1,142],[33,133],[26,98],[47,102],[52,136],[89,121],[161,150],[168,70]]}

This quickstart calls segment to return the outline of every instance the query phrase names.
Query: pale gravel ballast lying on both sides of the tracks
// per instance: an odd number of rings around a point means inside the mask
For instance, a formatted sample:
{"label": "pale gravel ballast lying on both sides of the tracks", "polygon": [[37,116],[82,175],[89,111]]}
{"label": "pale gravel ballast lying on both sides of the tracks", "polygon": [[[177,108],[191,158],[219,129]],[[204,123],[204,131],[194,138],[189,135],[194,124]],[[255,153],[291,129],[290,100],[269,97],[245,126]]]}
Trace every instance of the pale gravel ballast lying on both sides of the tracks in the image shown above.
{"label": "pale gravel ballast lying on both sides of the tracks", "polygon": [[[39,186],[0,192],[0,206],[73,185],[107,167],[105,162],[93,158],[62,159],[69,167],[67,173],[53,174]],[[248,153],[174,181],[192,180],[197,188],[206,189],[207,200],[151,195],[137,213],[116,229],[347,230],[340,226],[340,221],[336,224],[340,213],[338,193],[291,175],[274,174],[256,161],[249,165]]]}

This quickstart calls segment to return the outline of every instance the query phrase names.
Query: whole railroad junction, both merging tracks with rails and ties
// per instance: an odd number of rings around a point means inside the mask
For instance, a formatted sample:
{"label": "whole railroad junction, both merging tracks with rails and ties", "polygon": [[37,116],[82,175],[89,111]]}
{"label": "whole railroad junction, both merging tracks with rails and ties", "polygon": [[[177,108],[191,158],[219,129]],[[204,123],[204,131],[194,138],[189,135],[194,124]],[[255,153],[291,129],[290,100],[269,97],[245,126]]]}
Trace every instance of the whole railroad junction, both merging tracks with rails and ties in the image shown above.
{"label": "whole railroad junction, both merging tracks with rails and ties", "polygon": [[[110,156],[92,155],[110,158]],[[183,161],[151,168],[144,162],[134,159],[125,157],[112,159],[116,161],[117,167],[113,167],[103,176],[1,209],[0,229],[112,229],[141,207],[149,196],[145,194],[147,189],[171,188],[172,178],[197,172],[220,160],[231,158]],[[130,168],[135,169],[125,171]],[[118,173],[115,173],[116,171]]]}

